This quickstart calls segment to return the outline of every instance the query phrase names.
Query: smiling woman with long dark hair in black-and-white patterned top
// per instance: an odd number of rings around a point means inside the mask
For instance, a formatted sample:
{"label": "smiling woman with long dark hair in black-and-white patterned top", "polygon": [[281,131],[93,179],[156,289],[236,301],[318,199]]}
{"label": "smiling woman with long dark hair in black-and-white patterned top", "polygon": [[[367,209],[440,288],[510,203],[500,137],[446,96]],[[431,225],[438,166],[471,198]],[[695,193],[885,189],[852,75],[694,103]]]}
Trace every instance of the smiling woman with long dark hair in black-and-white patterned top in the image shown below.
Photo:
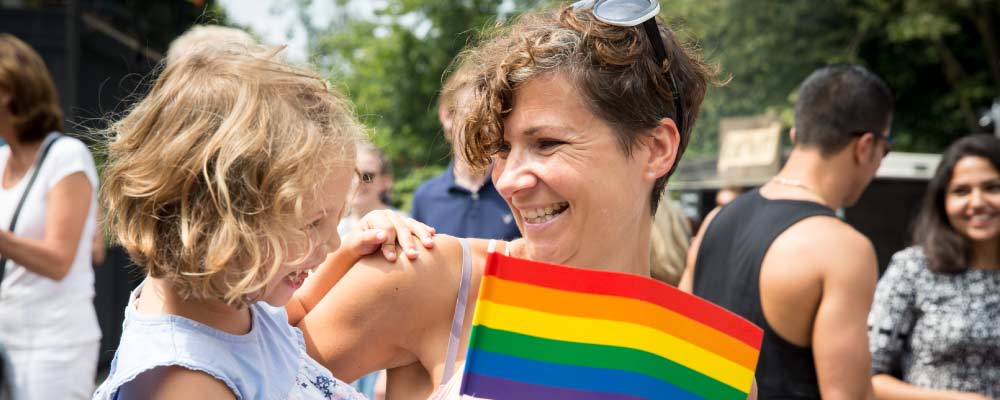
{"label": "smiling woman with long dark hair in black-and-white patterned top", "polygon": [[1000,139],[948,148],[868,318],[879,399],[1000,398]]}

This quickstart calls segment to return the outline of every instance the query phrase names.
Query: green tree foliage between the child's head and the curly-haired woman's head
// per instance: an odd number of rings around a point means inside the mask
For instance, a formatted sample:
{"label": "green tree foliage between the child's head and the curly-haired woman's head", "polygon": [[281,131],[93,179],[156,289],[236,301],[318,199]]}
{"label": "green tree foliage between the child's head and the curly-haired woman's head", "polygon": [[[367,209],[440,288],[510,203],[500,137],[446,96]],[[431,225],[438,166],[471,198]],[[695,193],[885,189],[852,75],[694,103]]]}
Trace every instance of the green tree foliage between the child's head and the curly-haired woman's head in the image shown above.
{"label": "green tree foliage between the child's head and the curly-haired woman's head", "polygon": [[392,158],[397,202],[409,206],[413,189],[440,172],[450,157],[437,118],[437,95],[452,60],[478,29],[531,0],[388,0],[374,18],[358,18],[338,1],[330,24],[317,27],[299,2],[312,61],[351,97],[372,141]]}

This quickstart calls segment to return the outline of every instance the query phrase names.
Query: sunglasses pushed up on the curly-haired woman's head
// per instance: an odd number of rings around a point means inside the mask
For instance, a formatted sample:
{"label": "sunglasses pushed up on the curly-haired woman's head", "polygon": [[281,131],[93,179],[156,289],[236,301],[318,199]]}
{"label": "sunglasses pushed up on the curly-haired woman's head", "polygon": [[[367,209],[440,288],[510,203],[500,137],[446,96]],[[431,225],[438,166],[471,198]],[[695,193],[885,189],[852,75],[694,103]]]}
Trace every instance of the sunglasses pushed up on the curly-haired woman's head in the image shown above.
{"label": "sunglasses pushed up on the curly-haired woman's head", "polygon": [[[660,28],[656,25],[656,14],[660,13],[659,0],[580,0],[571,7],[574,10],[590,9],[598,21],[615,26],[632,27],[642,24],[646,30],[646,38],[653,46],[656,65],[663,66],[663,62],[667,59],[667,51],[660,36]],[[672,74],[664,72],[664,76],[670,85],[670,93],[674,96],[674,111],[677,114],[674,116],[674,124],[677,125],[678,132],[684,132],[681,126],[684,123],[684,106],[680,87],[677,86]]]}

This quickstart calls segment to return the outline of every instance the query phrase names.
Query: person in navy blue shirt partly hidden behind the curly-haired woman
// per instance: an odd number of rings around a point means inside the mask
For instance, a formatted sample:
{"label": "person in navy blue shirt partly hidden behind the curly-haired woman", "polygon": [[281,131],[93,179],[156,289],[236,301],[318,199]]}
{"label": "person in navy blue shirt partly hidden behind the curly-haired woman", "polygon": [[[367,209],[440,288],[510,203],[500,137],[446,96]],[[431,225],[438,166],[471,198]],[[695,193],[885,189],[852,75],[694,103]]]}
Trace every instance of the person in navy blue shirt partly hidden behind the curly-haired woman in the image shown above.
{"label": "person in navy blue shirt partly hidden behind the curly-haired woman", "polygon": [[[461,105],[472,95],[468,75],[462,69],[453,72],[438,97],[438,118],[455,154],[462,145],[454,140],[458,135],[452,133],[452,121],[461,118],[465,112]],[[477,173],[461,159],[452,159],[441,174],[417,187],[411,212],[413,219],[438,233],[479,239],[521,237],[510,207],[493,187],[490,171]]]}

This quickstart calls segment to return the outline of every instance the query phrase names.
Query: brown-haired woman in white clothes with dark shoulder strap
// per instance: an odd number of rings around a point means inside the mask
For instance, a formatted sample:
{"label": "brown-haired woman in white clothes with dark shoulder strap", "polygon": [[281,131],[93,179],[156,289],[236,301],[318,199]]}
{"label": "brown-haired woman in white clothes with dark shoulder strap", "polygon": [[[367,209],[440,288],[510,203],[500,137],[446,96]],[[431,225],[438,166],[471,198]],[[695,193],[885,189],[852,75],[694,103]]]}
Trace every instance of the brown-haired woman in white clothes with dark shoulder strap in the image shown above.
{"label": "brown-haired woman in white clothes with dark shoulder strap", "polygon": [[[28,399],[85,399],[94,388],[101,331],[91,246],[97,170],[87,146],[59,135],[52,77],[31,47],[0,34],[0,343]],[[54,142],[53,142],[54,141]],[[40,167],[43,143],[51,143]],[[29,184],[13,232],[13,213]]]}

